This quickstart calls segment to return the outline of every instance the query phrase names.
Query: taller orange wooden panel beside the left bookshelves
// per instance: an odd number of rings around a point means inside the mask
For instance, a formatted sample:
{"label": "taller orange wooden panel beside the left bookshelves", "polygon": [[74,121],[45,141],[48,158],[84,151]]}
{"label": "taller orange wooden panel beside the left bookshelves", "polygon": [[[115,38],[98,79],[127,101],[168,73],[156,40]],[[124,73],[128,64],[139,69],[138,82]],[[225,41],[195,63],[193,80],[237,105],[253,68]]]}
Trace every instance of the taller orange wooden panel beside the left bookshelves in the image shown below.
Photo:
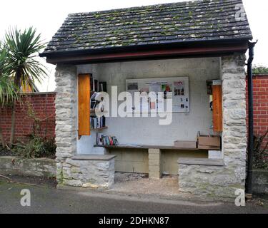
{"label": "taller orange wooden panel beside the left bookshelves", "polygon": [[78,76],[78,135],[90,135],[90,75]]}

